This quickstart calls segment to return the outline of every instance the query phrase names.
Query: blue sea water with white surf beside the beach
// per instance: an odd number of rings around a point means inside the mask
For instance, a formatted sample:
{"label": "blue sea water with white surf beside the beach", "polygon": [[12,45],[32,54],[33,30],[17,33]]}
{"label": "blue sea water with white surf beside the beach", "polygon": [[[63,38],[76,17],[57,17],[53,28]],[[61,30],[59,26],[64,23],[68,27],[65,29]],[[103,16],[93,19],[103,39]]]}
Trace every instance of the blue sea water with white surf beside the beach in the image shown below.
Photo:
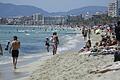
{"label": "blue sea water with white surf beside the beach", "polygon": [[[78,50],[84,43],[80,38],[79,29],[72,28],[52,28],[50,26],[18,26],[18,25],[0,25],[0,43],[3,50],[7,42],[12,40],[13,36],[18,36],[21,42],[20,52],[24,54],[36,54],[46,52],[45,38],[50,37],[56,31],[60,39],[58,51]],[[8,52],[4,50],[6,55]]]}

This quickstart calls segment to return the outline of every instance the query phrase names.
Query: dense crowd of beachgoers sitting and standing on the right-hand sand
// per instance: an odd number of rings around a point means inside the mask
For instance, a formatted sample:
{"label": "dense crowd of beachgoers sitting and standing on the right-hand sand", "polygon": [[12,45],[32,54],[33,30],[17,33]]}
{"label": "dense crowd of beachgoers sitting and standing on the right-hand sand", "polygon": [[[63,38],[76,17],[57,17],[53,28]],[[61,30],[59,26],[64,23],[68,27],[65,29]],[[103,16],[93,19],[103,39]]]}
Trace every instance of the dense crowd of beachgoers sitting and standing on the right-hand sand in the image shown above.
{"label": "dense crowd of beachgoers sitting and standing on the right-hand sand", "polygon": [[[101,35],[101,40],[91,44],[90,30],[93,30],[95,35]],[[90,55],[114,54],[114,61],[120,61],[120,21],[115,26],[98,26],[91,29],[83,26],[82,35],[87,41],[79,52],[90,51]]]}

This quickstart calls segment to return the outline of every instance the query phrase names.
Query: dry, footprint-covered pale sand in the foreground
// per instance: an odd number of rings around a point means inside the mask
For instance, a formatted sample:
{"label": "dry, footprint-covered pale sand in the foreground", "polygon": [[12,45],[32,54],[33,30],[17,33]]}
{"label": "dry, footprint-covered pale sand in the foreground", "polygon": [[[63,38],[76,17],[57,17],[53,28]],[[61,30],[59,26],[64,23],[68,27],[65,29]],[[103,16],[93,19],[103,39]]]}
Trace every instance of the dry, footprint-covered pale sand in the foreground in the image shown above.
{"label": "dry, footprint-covered pale sand in the foreground", "polygon": [[88,57],[87,54],[65,53],[37,64],[39,68],[27,80],[120,80],[120,70],[91,73],[109,64],[114,64],[113,55]]}

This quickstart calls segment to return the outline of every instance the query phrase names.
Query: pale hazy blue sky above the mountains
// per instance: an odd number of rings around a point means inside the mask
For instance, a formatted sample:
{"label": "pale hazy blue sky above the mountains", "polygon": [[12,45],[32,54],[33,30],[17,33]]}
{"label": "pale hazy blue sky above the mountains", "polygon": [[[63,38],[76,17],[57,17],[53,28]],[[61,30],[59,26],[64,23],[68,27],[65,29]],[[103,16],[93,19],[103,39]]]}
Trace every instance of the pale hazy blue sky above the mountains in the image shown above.
{"label": "pale hazy blue sky above the mountains", "polygon": [[0,0],[2,3],[32,5],[48,12],[62,12],[84,6],[108,6],[111,0]]}

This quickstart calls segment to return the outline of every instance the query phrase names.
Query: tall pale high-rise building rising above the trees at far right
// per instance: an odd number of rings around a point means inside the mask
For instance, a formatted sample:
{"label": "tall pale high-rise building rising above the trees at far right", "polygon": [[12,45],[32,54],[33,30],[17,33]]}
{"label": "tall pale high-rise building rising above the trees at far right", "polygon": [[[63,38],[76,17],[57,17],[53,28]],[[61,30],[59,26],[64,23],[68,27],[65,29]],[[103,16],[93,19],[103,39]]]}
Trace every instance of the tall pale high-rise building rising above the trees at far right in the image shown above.
{"label": "tall pale high-rise building rising above the trees at far right", "polygon": [[120,0],[113,0],[109,3],[108,16],[120,17]]}

